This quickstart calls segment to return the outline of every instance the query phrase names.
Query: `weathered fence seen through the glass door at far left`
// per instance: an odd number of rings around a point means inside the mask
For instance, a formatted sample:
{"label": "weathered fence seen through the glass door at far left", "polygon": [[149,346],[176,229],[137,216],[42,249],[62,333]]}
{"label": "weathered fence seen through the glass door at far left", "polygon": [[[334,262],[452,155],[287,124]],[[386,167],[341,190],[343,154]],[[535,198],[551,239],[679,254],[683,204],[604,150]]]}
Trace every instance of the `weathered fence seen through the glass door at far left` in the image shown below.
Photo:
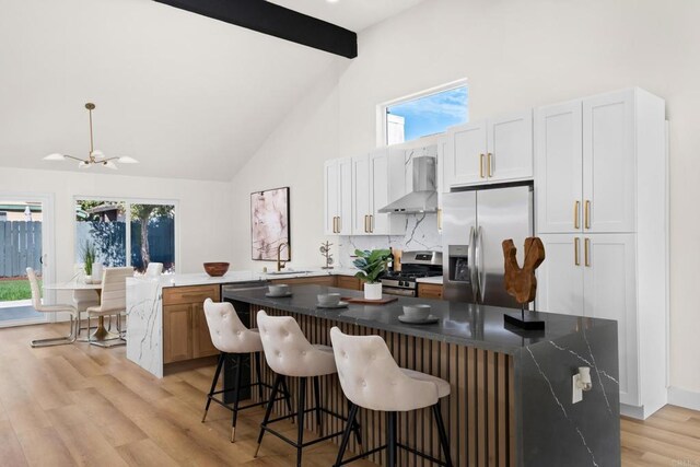
{"label": "weathered fence seen through the glass door at far left", "polygon": [[0,221],[0,278],[26,276],[26,268],[42,271],[42,223]]}

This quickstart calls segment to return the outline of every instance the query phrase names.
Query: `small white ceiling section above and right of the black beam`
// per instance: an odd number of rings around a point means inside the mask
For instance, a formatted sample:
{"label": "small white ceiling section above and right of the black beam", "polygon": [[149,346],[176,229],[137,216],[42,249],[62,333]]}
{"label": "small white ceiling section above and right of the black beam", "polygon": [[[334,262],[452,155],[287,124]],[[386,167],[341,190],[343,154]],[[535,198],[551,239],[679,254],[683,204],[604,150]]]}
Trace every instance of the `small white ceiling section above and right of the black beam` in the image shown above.
{"label": "small white ceiling section above and right of the black beam", "polygon": [[362,31],[423,0],[268,0],[350,31]]}

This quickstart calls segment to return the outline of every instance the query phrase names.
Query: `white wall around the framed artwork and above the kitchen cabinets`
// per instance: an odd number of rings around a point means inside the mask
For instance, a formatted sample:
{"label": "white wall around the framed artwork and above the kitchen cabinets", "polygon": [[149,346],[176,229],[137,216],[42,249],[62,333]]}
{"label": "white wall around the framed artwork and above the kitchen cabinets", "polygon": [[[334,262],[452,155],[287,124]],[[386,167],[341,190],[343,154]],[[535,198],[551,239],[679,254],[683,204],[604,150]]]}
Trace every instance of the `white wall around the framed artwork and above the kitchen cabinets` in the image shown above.
{"label": "white wall around the framed artwork and above the kitchen cabinets", "polygon": [[696,0],[430,0],[365,30],[234,177],[234,257],[249,258],[249,191],[291,186],[296,258],[320,261],[322,161],[373,148],[380,103],[467,78],[477,119],[639,85],[672,121],[672,384],[700,394],[699,19]]}

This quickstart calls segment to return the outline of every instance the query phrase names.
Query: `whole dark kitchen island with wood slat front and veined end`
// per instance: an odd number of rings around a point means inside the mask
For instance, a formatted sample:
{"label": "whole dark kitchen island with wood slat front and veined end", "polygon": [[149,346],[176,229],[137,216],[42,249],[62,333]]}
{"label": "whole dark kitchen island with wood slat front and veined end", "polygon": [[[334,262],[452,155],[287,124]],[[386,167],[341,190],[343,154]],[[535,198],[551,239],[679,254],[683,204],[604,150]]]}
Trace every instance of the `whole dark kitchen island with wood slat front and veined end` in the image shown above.
{"label": "whole dark kitchen island with wood slat front and veined end", "polygon": [[[620,464],[617,323],[559,314],[540,314],[544,331],[505,328],[505,308],[401,297],[388,305],[316,308],[316,295],[361,292],[318,285],[292,287],[293,296],[270,299],[265,289],[228,291],[242,316],[258,310],[293,316],[312,343],[330,345],[328,331],[338,326],[353,335],[376,334],[401,366],[448,381],[443,401],[453,460],[460,466],[616,466]],[[398,320],[402,305],[430,303],[440,318],[434,325]],[[590,366],[593,388],[572,404],[572,376]],[[271,383],[265,366],[262,377]],[[292,384],[292,393],[296,387]],[[323,394],[332,410],[343,411],[336,377],[324,378]],[[254,395],[255,397],[255,395]],[[279,413],[284,408],[276,407]],[[361,410],[363,448],[383,444],[382,417]],[[328,430],[338,421],[324,421]],[[428,412],[401,415],[399,437],[417,450],[440,456]],[[311,418],[307,429],[314,430]],[[351,445],[352,450],[358,446]],[[375,455],[372,460],[382,464]],[[400,465],[418,465],[401,453]]]}

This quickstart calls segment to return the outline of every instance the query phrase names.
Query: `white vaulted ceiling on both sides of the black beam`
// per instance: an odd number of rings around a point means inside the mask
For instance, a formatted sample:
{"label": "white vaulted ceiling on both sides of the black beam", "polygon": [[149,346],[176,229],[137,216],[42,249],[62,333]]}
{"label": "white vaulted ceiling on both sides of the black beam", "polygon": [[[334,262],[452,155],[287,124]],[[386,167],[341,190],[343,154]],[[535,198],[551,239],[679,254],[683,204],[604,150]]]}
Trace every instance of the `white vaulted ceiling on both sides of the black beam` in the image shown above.
{"label": "white vaulted ceiling on both sides of the black beam", "polygon": [[[359,31],[419,1],[275,2]],[[94,102],[95,147],[141,162],[119,173],[229,180],[345,60],[150,0],[5,0],[0,166],[78,170],[42,157],[86,155]]]}

